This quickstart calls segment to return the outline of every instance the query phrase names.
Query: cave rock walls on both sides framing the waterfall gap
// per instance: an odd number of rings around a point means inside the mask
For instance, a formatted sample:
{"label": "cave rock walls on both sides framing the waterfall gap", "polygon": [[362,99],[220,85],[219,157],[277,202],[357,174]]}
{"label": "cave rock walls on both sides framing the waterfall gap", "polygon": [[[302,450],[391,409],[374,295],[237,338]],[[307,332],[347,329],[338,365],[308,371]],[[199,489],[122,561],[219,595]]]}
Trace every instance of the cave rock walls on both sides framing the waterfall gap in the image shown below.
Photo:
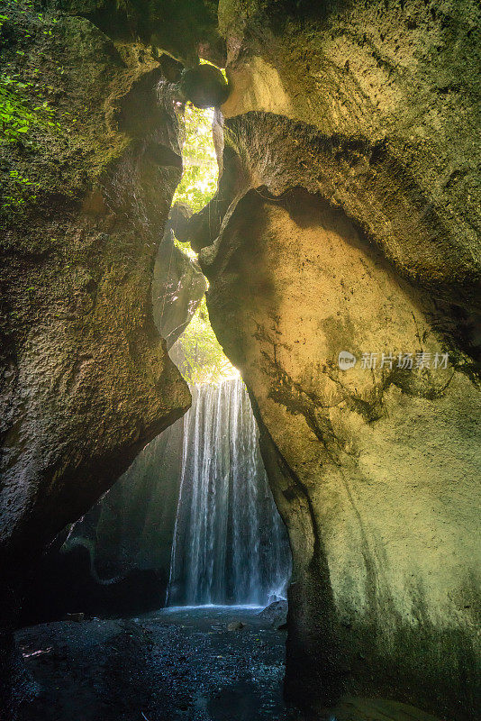
{"label": "cave rock walls on both sides framing the waterfall gap", "polygon": [[[178,68],[150,43],[223,51],[210,2],[64,6],[2,26],[7,72],[49,78],[54,123],[2,157],[10,609],[19,570],[189,404],[151,313],[180,158],[161,82]],[[222,0],[219,22],[222,181],[187,234],[291,537],[287,695],[472,718],[478,8]],[[21,212],[14,169],[35,188]]]}

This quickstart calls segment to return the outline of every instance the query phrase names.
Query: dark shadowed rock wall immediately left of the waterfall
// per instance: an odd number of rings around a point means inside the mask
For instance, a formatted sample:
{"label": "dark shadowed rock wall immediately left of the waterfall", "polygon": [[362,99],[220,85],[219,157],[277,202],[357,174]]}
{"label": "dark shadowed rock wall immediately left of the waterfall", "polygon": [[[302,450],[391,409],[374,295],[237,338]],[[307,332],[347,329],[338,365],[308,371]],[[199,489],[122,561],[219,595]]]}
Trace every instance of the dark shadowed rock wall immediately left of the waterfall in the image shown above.
{"label": "dark shadowed rock wall immediately left of the waterfall", "polygon": [[20,625],[67,614],[131,617],[165,605],[184,419],[139,453],[77,523],[59,534],[23,589]]}

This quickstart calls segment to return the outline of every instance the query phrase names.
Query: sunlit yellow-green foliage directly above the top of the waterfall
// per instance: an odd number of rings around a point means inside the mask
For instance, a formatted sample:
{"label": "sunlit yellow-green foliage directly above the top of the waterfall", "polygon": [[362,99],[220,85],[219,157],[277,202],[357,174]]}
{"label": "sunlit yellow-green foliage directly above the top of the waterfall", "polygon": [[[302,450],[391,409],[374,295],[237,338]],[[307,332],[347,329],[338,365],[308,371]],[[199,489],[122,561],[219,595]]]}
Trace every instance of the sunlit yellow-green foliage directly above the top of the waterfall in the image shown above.
{"label": "sunlit yellow-green foliage directly above the top of the waterfall", "polygon": [[225,357],[213,333],[205,297],[174,346],[172,355],[188,383],[215,383],[232,378],[238,372]]}

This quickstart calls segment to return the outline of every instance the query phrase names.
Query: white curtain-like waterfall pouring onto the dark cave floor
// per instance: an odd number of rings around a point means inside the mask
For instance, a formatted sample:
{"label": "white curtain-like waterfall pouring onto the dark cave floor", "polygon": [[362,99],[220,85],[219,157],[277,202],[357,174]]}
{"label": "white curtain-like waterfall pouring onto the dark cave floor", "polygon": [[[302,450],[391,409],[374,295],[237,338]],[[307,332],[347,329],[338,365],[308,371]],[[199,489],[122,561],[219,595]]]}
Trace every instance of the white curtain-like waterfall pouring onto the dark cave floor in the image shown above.
{"label": "white curtain-like waterfall pouring onto the dark cave floor", "polygon": [[290,552],[247,390],[241,379],[191,390],[168,605],[264,606],[285,596]]}

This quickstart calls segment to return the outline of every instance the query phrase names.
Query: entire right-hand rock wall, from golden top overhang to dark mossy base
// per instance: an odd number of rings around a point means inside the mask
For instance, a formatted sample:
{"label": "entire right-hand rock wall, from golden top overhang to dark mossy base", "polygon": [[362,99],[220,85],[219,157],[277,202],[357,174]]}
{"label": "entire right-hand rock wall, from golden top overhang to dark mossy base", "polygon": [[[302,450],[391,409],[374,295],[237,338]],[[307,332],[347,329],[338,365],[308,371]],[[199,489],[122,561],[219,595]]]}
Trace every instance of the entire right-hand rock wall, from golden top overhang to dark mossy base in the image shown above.
{"label": "entire right-hand rock wall, from golden top overhang to dark mossy base", "polygon": [[477,11],[296,5],[220,5],[223,175],[189,231],[291,538],[286,693],[472,718]]}

